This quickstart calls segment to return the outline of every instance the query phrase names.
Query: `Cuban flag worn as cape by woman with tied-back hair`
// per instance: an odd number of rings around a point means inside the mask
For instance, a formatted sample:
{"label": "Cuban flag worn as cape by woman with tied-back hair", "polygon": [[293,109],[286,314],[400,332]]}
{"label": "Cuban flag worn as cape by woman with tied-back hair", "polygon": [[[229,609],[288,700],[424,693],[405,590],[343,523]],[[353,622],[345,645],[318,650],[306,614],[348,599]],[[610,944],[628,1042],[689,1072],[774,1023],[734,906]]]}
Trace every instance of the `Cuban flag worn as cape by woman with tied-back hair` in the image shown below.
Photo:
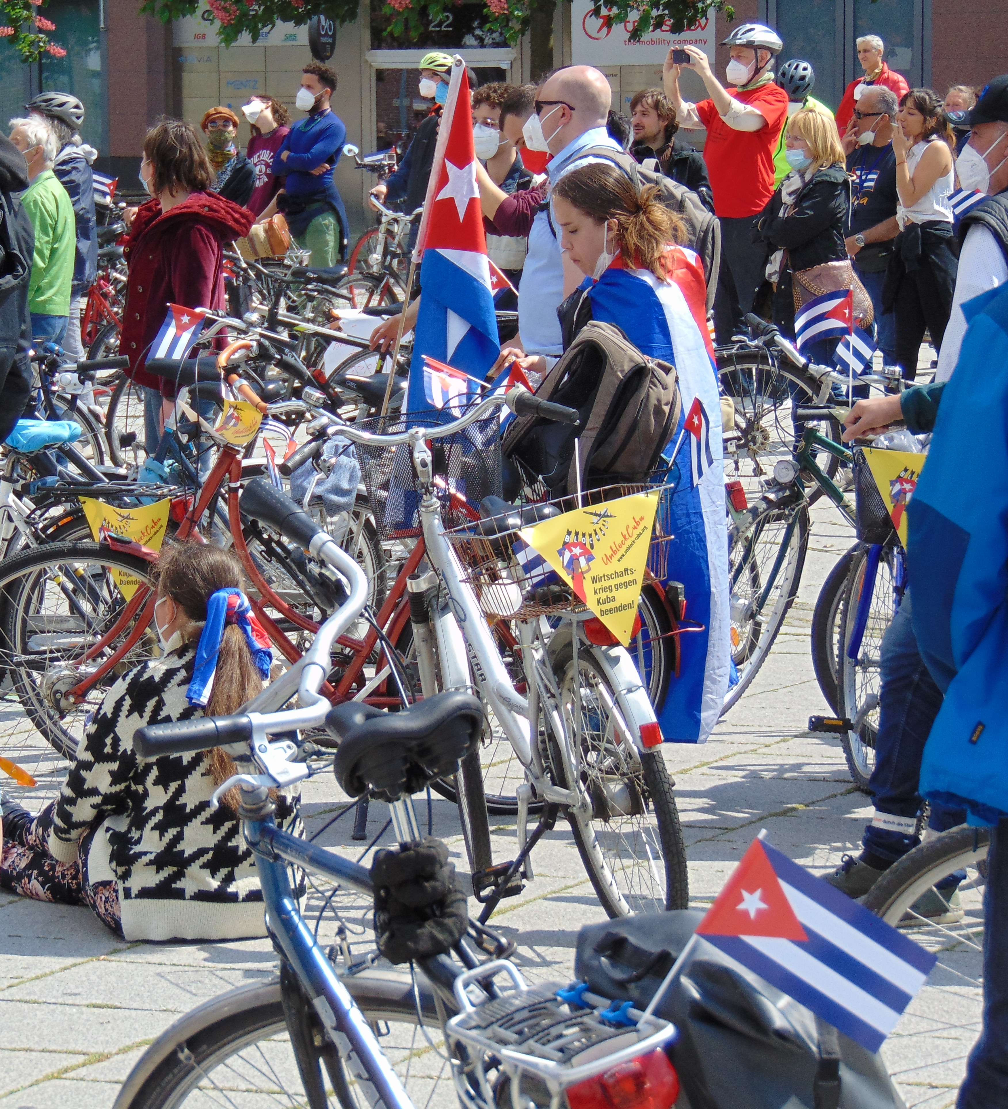
{"label": "Cuban flag worn as cape by woman with tied-back hair", "polygon": [[617,256],[595,284],[588,278],[582,287],[591,297],[594,319],[615,324],[643,354],[675,366],[683,417],[667,452],[697,398],[710,423],[712,465],[694,485],[689,451],[681,450],[669,476],[676,492],[666,501],[667,511],[665,503],[662,507],[664,526],[675,536],[669,574],[683,582],[688,619],[705,630],[679,637],[679,676],[673,675],[664,702],[655,705],[666,740],[703,743],[720,715],[730,665],[720,399],[706,328],[703,268],[696,255],[681,246],[669,252],[669,263],[671,282],[663,282],[647,269],[625,268]]}

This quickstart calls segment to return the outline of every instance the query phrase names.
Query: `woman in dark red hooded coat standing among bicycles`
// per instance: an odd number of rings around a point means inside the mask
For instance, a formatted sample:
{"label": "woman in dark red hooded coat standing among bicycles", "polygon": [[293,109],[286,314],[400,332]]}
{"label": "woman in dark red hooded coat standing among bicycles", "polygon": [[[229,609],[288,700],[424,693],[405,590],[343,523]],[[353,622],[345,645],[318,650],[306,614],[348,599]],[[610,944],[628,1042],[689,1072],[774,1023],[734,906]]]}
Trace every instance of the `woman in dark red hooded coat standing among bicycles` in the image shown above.
{"label": "woman in dark red hooded coat standing among bicycles", "polygon": [[248,235],[254,216],[210,192],[213,170],[195,128],[164,120],[147,133],[140,180],[151,194],[133,217],[123,254],[130,279],[119,353],[145,394],[145,446],[153,452],[164,426],[162,397],[173,387],[148,374],[148,355],[170,304],[224,308],[223,250]]}

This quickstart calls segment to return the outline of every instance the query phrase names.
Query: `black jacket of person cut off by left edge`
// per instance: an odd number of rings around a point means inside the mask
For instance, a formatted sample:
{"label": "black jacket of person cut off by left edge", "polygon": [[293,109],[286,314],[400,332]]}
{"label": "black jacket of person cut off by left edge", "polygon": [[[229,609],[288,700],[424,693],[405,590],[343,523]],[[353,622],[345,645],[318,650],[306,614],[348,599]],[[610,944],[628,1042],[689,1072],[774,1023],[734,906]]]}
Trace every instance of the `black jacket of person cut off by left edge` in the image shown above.
{"label": "black jacket of person cut off by left edge", "polygon": [[24,156],[0,134],[0,442],[24,410],[31,381],[28,283],[36,235],[21,202],[11,195],[27,187]]}

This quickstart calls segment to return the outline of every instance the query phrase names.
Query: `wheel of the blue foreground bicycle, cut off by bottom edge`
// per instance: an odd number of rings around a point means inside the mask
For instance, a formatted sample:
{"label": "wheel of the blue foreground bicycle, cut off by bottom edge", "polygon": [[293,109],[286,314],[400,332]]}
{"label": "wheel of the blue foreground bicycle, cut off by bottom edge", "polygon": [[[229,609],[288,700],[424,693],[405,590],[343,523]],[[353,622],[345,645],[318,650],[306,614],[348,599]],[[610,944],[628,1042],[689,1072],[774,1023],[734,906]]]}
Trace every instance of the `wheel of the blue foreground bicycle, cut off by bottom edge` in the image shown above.
{"label": "wheel of the blue foreground bicycle, cut off by bottom edge", "polygon": [[[412,1030],[414,1040],[417,1031],[423,1037],[421,1022],[432,1040],[441,1040],[433,997],[419,981],[417,1004],[409,973],[367,969],[346,976],[342,981],[367,1022],[373,1028],[383,1024],[386,1026],[384,1040],[400,1040],[401,1035],[405,1038],[405,1029]],[[393,1031],[393,1025],[396,1031]],[[397,1031],[400,1026],[404,1029],[403,1034]],[[213,1090],[208,1091],[205,1079],[219,1074],[220,1078],[211,1081],[220,1088],[220,1079],[224,1077],[220,1071],[223,1068],[229,1072],[225,1083],[228,1100],[221,1103],[259,1107],[273,1103],[265,1099],[276,1098],[275,1103],[285,1106],[306,1105],[290,1042],[284,1044],[285,1036],[286,1020],[279,977],[229,990],[187,1014],[154,1041],[123,1083],[115,1109],[180,1109],[190,1096],[201,1106],[206,1105]],[[399,1042],[386,1046],[390,1048],[386,1056],[392,1059],[400,1077],[404,1078],[407,1091],[414,1090],[414,1105],[423,1105],[424,1100],[416,1097],[415,1091],[432,1082],[426,1074],[413,1075],[411,1080],[410,1061],[413,1060],[410,1057],[416,1052]],[[424,1049],[429,1047],[426,1042],[422,1046]],[[266,1060],[266,1066],[252,1061],[256,1052]],[[151,1056],[153,1059],[149,1058]],[[399,1064],[396,1060],[400,1060]],[[441,1069],[444,1074],[448,1072],[446,1060]],[[279,1089],[279,1083],[285,1083],[288,1076],[293,1078],[293,1088]],[[262,1079],[265,1089],[252,1088],[251,1083],[258,1078]],[[454,1102],[451,1082],[448,1088]],[[292,1093],[298,1097],[292,1097]],[[342,1099],[335,1093],[326,1095],[326,1102],[329,1106],[341,1106],[341,1109],[359,1109],[359,1101],[352,1093],[347,1097],[344,1092]]]}

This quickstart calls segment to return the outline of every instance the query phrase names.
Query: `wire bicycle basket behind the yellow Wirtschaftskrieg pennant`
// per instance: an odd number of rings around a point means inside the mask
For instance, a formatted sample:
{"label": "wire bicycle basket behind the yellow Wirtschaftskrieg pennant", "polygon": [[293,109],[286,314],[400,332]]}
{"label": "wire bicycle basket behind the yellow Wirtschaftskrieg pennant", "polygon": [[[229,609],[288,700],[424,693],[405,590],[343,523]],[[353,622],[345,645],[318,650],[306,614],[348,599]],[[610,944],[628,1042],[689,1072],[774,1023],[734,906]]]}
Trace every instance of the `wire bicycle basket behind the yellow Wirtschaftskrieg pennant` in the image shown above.
{"label": "wire bicycle basket behind the yellow Wirtschaftskrieg pennant", "polygon": [[[546,506],[555,508],[557,512],[569,512],[575,508],[588,508],[656,489],[661,489],[662,498],[655,515],[645,581],[664,581],[668,577],[668,545],[673,538],[669,525],[671,501],[675,489],[672,486],[604,486],[585,490],[579,503],[576,496],[560,497],[515,506],[514,515],[517,516],[523,508]],[[533,620],[560,612],[585,611],[584,603],[573,594],[546,559],[522,539],[518,529],[502,530],[491,536],[481,532],[480,525],[466,522],[445,531],[445,539],[462,563],[462,580],[473,587],[484,612],[493,617]]]}

